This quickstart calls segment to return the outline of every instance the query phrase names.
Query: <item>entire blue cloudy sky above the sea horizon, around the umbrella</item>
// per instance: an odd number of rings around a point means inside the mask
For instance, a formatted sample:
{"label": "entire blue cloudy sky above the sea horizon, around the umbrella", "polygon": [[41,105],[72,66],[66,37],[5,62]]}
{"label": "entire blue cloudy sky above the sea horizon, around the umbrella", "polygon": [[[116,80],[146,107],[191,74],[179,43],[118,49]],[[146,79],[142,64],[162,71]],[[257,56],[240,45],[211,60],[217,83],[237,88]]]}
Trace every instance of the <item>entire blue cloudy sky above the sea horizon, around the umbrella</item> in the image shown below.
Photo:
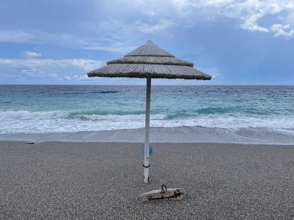
{"label": "entire blue cloudy sky above the sea horizon, around the umbrella", "polygon": [[212,76],[153,85],[294,85],[293,0],[0,0],[0,84],[144,85],[86,73],[147,40]]}

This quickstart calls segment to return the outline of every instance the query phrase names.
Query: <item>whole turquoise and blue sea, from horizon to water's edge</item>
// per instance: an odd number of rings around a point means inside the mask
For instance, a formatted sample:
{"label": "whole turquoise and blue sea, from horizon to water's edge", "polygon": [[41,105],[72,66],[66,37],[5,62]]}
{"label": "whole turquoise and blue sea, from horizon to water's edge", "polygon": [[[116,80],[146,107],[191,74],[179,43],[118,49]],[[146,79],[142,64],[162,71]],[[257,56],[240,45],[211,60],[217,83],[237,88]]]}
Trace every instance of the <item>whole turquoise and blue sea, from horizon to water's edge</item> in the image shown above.
{"label": "whole turquoise and blue sea, from horizon to water's edge", "polygon": [[[152,83],[152,82],[151,82]],[[146,86],[0,85],[0,140],[144,142]],[[151,142],[294,143],[294,86],[151,86]]]}

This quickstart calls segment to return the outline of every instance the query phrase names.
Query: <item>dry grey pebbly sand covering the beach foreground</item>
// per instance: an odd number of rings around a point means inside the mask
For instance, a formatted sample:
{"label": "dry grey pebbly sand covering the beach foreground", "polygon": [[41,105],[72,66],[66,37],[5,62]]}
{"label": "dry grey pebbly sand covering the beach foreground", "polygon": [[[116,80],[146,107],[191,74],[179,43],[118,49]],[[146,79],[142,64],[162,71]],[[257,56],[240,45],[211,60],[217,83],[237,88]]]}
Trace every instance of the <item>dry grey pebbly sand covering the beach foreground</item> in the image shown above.
{"label": "dry grey pebbly sand covering the beach foreground", "polygon": [[151,143],[146,184],[141,143],[0,144],[0,219],[294,219],[294,145]]}

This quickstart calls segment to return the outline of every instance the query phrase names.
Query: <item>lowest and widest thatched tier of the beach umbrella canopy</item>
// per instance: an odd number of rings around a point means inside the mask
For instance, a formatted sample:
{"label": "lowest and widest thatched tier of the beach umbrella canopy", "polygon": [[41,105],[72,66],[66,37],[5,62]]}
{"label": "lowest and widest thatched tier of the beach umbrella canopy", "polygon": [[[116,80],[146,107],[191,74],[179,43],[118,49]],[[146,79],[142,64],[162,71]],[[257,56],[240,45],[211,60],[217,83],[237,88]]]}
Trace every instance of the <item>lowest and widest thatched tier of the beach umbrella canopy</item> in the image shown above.
{"label": "lowest and widest thatched tier of the beach umbrella canopy", "polygon": [[88,72],[89,77],[127,77],[153,79],[198,79],[210,80],[211,76],[191,66],[113,63]]}

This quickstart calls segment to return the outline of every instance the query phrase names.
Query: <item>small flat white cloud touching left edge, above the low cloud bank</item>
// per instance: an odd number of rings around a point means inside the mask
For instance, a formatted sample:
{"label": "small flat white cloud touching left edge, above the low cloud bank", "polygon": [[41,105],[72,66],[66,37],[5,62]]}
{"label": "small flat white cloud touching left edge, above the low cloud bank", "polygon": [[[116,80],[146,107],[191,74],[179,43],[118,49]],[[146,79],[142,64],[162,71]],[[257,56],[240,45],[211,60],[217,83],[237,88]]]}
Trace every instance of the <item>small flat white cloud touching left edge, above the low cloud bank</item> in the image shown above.
{"label": "small flat white cloud touching left edge, above the low cloud bank", "polygon": [[0,31],[0,42],[26,43],[34,38],[34,35],[23,31]]}

